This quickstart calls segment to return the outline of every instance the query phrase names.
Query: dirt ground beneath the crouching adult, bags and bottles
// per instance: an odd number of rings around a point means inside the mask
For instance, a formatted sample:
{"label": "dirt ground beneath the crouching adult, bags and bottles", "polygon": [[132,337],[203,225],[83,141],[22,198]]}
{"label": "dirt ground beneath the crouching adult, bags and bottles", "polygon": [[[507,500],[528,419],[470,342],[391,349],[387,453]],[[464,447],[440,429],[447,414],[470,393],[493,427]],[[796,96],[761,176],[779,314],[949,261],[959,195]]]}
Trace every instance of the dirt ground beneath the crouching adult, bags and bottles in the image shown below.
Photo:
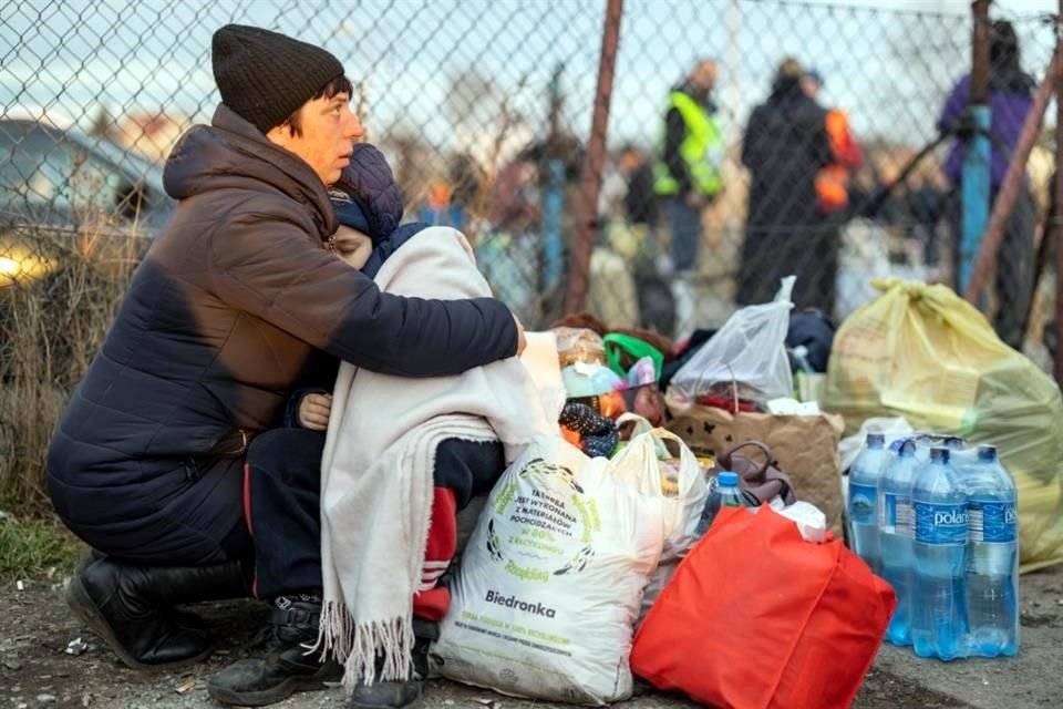
{"label": "dirt ground beneath the crouching adult, bags and bottles", "polygon": [[[203,665],[178,672],[126,669],[70,613],[61,583],[3,579],[0,588],[0,709],[42,707],[148,709],[217,707],[205,680],[241,657],[241,648],[264,618],[250,602],[198,608],[216,628],[217,646]],[[1032,709],[1063,706],[1063,567],[1023,577],[1022,649],[1011,660],[943,664],[920,660],[910,650],[886,646],[854,703],[857,709],[935,708]],[[89,648],[65,653],[76,638]],[[629,707],[680,709],[689,702],[640,687]],[[532,709],[549,707],[446,681],[433,681],[429,709]],[[339,689],[297,695],[276,705],[286,709],[342,707]],[[813,709],[813,708],[798,708]]]}

